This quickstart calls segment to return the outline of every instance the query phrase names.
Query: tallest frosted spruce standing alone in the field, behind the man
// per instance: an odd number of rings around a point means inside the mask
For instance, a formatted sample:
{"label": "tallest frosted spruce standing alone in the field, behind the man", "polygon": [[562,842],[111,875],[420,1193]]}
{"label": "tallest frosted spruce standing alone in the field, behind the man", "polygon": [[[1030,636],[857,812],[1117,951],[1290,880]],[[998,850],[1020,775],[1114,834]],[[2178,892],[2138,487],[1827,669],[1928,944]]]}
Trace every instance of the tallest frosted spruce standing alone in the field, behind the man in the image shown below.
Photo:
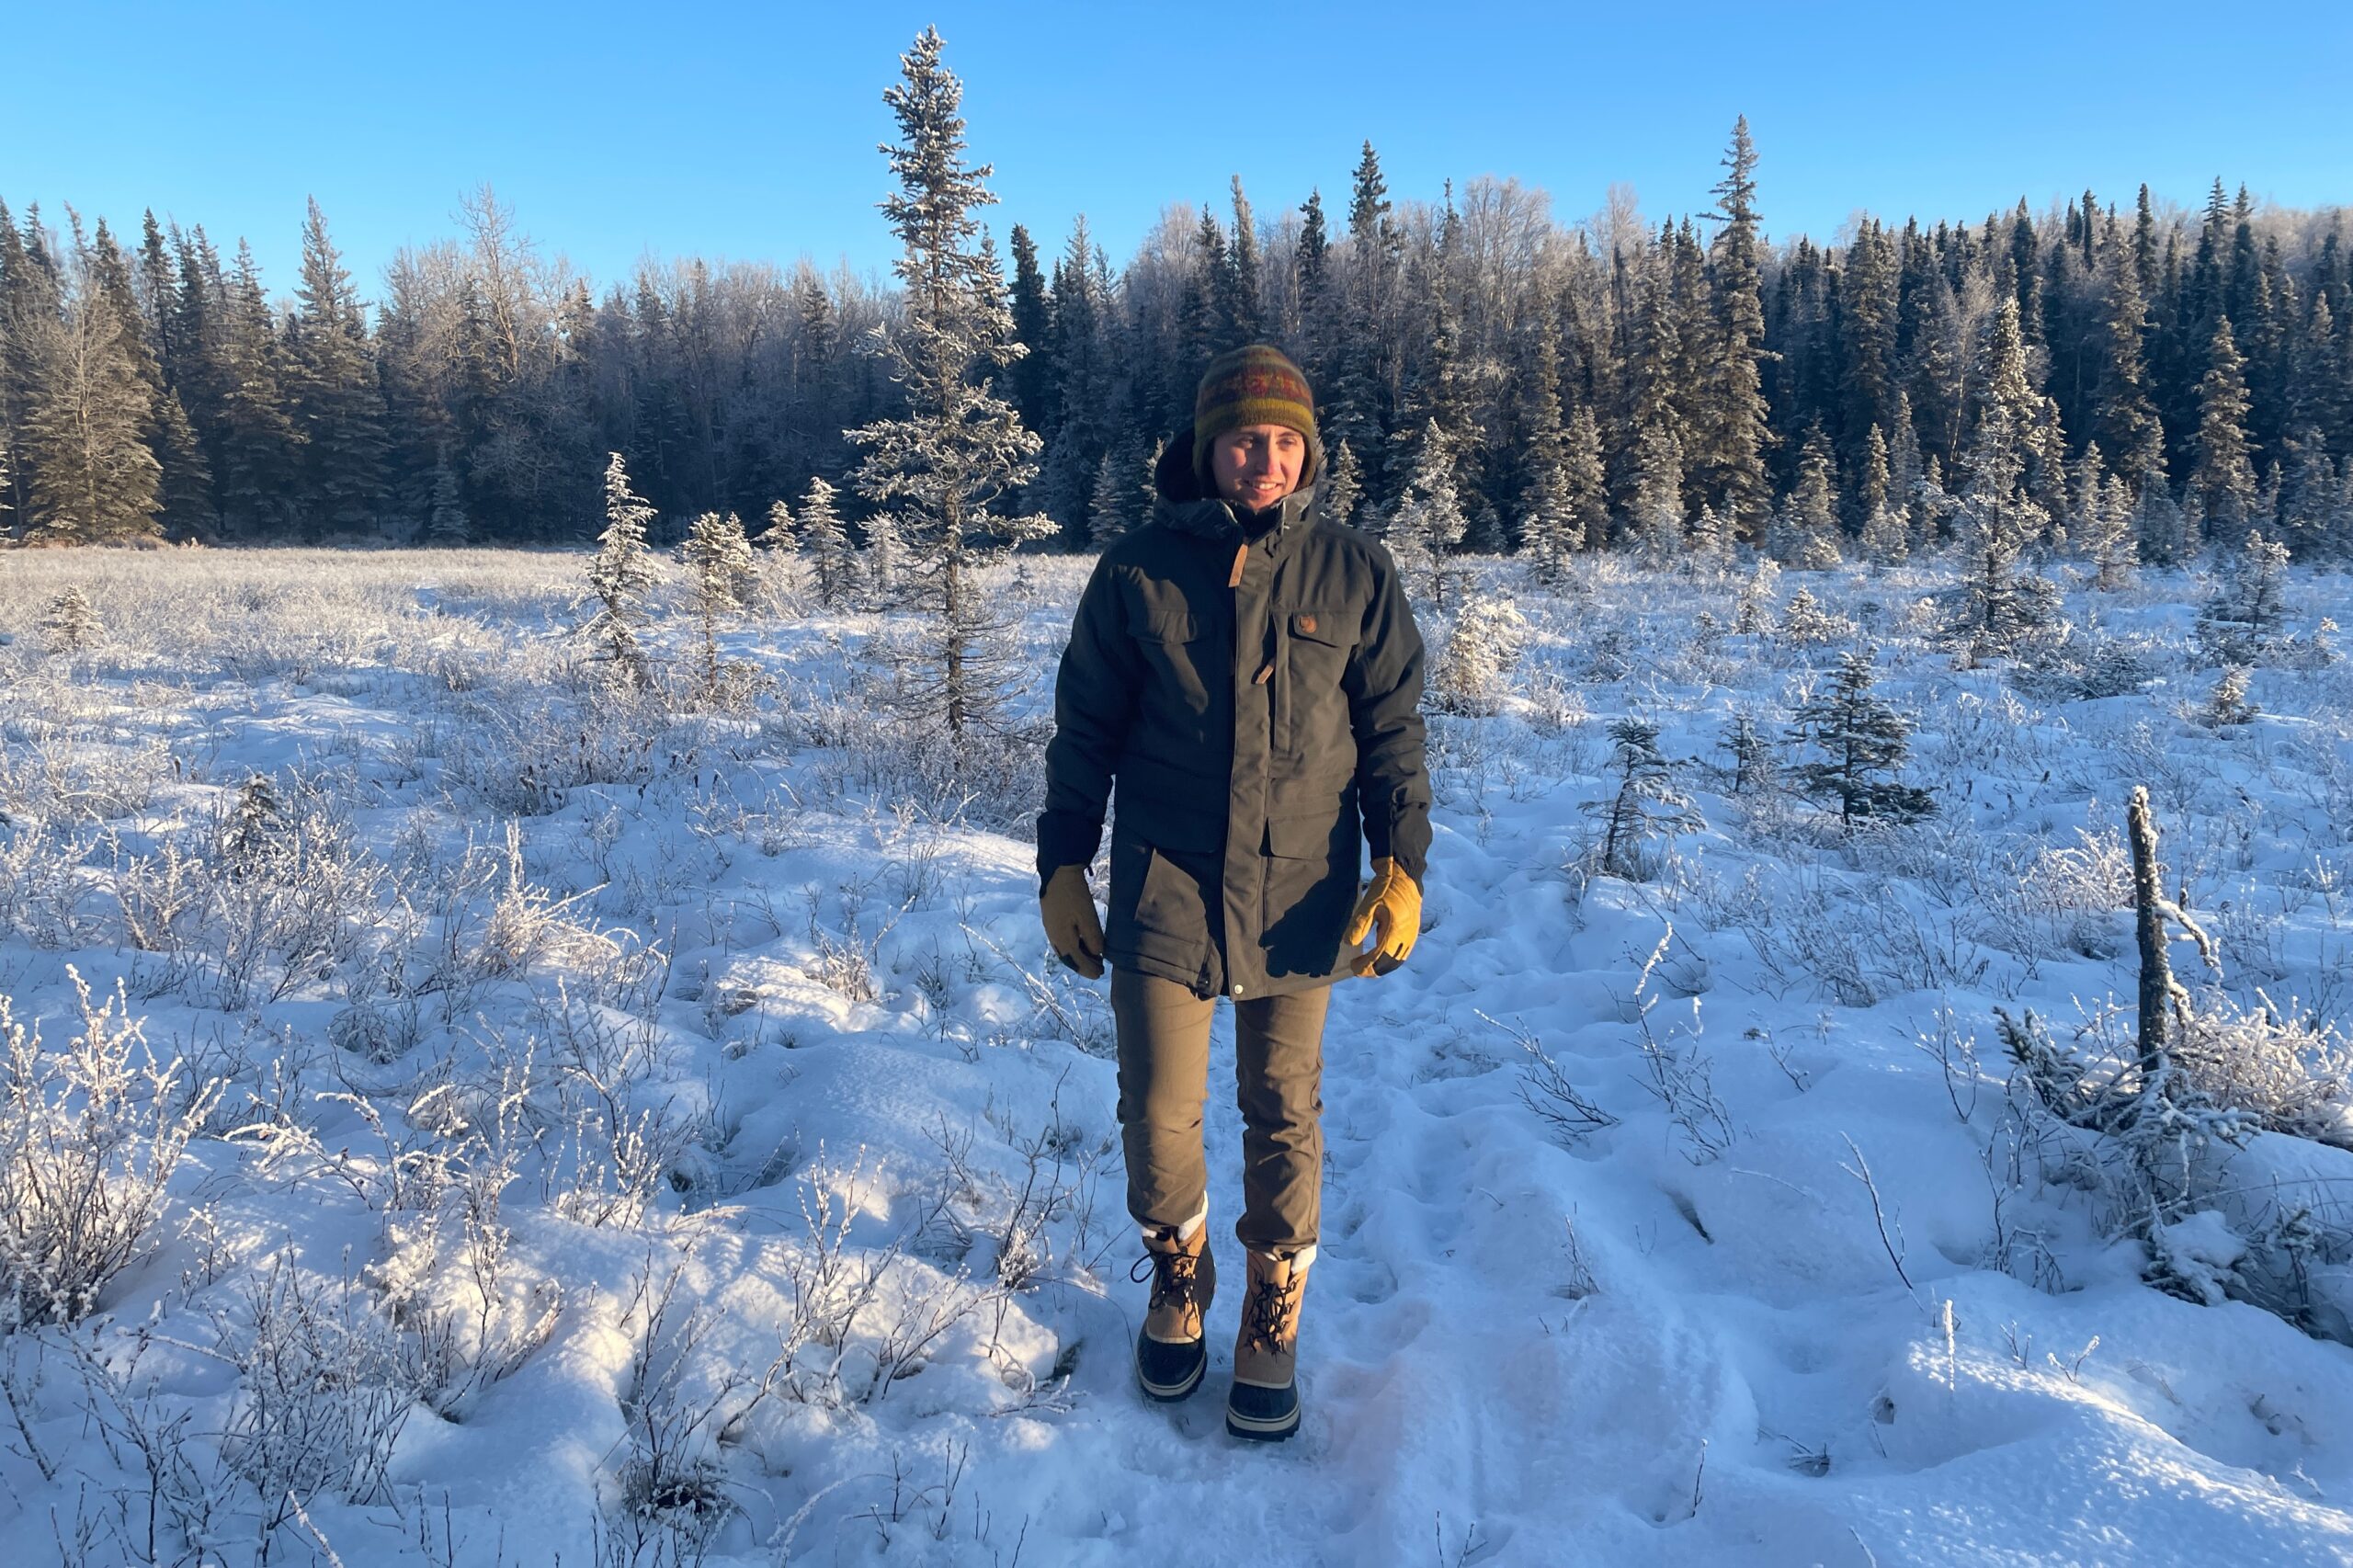
{"label": "tallest frosted spruce standing alone in the field, behind the man", "polygon": [[859,494],[885,509],[925,584],[929,669],[915,695],[962,760],[965,732],[995,725],[1012,673],[1012,622],[984,596],[979,567],[993,544],[1045,539],[1054,523],[993,513],[1038,476],[1042,443],[988,374],[1026,348],[1014,339],[995,259],[974,245],[974,210],[995,195],[991,167],[965,162],[965,87],[941,64],[939,28],[925,28],[899,66],[904,80],[882,94],[899,120],[899,144],[882,148],[899,188],[882,214],[904,247],[892,264],[904,306],[882,344],[908,407],[849,436],[866,447]]}

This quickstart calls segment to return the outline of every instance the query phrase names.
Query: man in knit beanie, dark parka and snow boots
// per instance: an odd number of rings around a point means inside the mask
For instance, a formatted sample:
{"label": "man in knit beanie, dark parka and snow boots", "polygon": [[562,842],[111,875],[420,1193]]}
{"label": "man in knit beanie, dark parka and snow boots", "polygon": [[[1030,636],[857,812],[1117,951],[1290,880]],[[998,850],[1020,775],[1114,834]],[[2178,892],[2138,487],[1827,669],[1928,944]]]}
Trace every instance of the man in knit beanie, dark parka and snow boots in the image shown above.
{"label": "man in knit beanie, dark parka and snow boots", "polygon": [[[1153,1398],[1188,1396],[1209,1361],[1200,1109],[1214,998],[1233,1001],[1249,1297],[1226,1429],[1245,1439],[1299,1427],[1327,986],[1412,951],[1431,845],[1421,633],[1388,551],[1315,513],[1320,469],[1299,367],[1264,344],[1212,360],[1151,523],[1104,551],[1078,600],[1038,819],[1054,951],[1089,979],[1113,968]],[[1113,782],[1106,928],[1087,864]]]}

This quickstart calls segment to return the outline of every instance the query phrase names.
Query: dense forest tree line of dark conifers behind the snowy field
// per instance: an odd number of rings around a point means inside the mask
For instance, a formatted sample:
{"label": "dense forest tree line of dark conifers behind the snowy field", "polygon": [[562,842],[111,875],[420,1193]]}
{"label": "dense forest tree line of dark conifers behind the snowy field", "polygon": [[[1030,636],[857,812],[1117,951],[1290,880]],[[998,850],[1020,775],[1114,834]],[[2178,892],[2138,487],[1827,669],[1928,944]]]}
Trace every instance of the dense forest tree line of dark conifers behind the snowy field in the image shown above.
{"label": "dense forest tree line of dark conifers behind the snowy field", "polygon": [[[0,525],[31,542],[572,544],[607,454],[682,537],[847,487],[901,419],[904,294],[807,261],[645,261],[595,292],[487,188],[461,235],[362,299],[313,202],[273,299],[240,242],[136,238],[0,202]],[[1478,179],[1346,205],[1172,207],[1122,268],[1080,219],[1019,224],[972,275],[1028,353],[995,393],[1040,445],[998,501],[1045,544],[1141,520],[1155,445],[1219,348],[1271,339],[1318,388],[1327,506],[1405,556],[1659,560],[1753,544],[1894,560],[2002,513],[2028,549],[2179,560],[2264,530],[2353,551],[2344,210],[2200,212],[2094,191],[1984,221],[1861,219],[1767,242],[1732,132],[1708,212],[1586,221]],[[1009,266],[1007,266],[1009,259]],[[934,403],[944,388],[929,388]],[[894,499],[845,494],[847,527]]]}

